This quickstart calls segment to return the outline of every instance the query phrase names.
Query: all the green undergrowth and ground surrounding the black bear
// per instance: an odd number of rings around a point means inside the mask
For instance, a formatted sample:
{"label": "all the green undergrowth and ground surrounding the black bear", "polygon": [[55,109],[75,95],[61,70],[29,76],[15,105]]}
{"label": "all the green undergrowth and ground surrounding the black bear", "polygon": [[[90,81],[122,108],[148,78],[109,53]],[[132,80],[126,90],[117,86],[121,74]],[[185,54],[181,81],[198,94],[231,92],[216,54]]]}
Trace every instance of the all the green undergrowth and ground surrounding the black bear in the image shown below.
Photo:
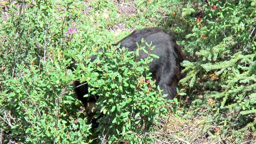
{"label": "all the green undergrowth and ground surrounding the black bear", "polygon": [[[255,143],[255,0],[0,4],[0,144]],[[147,63],[157,56],[134,62],[138,51],[112,46],[145,27],[183,46],[179,102],[153,90]],[[91,55],[101,59],[86,61]],[[97,130],[73,93],[77,79],[101,95],[98,114],[106,116]]]}

